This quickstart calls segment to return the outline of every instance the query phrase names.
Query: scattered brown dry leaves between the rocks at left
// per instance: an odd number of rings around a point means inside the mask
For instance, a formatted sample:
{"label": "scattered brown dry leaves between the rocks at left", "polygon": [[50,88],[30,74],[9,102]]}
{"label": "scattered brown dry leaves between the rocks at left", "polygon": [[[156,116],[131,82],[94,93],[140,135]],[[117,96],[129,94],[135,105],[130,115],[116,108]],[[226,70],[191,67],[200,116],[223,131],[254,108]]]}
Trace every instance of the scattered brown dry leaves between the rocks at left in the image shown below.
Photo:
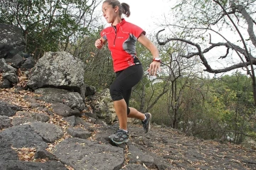
{"label": "scattered brown dry leaves between the rocks at left", "polygon": [[[2,79],[2,74],[0,73],[0,80]],[[27,82],[26,75],[24,72],[21,72],[21,70],[18,70],[18,84],[16,84],[16,87],[24,87],[26,86]],[[40,96],[38,94],[34,94],[31,91],[25,91],[25,90],[18,90],[16,87],[13,87],[11,89],[0,89],[0,100],[5,101],[6,103],[12,103],[16,106],[20,106],[23,108],[23,111],[26,111],[28,113],[45,113],[43,111],[38,111],[38,108],[31,108],[31,103],[26,101],[24,99],[25,96],[35,98],[36,96]],[[55,149],[55,146],[58,145],[60,142],[65,140],[68,137],[71,137],[68,135],[68,132],[66,132],[66,129],[70,126],[68,122],[63,120],[63,117],[60,115],[57,115],[54,113],[53,109],[51,108],[50,103],[46,103],[45,101],[39,101],[37,100],[36,102],[40,103],[40,105],[44,108],[48,108],[49,111],[53,112],[53,115],[48,115],[48,113],[45,113],[50,117],[50,120],[48,120],[48,123],[58,125],[60,126],[63,131],[64,135],[61,139],[56,140],[54,143],[48,143],[48,152],[53,153],[53,149]],[[16,117],[18,115],[15,115]],[[11,117],[10,119],[14,118]],[[82,120],[88,121],[88,118],[85,116],[82,117]],[[78,125],[78,128],[85,129],[83,125]],[[92,137],[90,138],[91,140],[95,140],[95,133],[92,132]],[[29,147],[23,147],[23,148],[15,148],[11,147],[18,153],[18,159],[21,161],[25,162],[48,162],[48,159],[35,159],[35,154],[36,154],[36,148],[29,148]],[[69,170],[74,170],[73,167],[65,165],[67,169]]]}

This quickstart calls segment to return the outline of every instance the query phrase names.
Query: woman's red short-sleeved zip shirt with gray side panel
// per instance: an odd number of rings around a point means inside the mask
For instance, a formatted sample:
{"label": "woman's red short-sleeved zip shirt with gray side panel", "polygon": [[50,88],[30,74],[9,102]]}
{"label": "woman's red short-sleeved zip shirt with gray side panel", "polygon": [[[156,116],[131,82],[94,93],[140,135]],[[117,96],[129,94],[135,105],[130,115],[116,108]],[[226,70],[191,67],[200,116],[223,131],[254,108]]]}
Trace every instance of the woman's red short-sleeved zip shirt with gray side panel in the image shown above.
{"label": "woman's red short-sleeved zip shirt with gray side panel", "polygon": [[146,34],[142,28],[125,21],[123,18],[117,26],[110,26],[102,30],[100,35],[107,40],[112,55],[114,72],[140,64],[136,55],[136,42],[142,33]]}

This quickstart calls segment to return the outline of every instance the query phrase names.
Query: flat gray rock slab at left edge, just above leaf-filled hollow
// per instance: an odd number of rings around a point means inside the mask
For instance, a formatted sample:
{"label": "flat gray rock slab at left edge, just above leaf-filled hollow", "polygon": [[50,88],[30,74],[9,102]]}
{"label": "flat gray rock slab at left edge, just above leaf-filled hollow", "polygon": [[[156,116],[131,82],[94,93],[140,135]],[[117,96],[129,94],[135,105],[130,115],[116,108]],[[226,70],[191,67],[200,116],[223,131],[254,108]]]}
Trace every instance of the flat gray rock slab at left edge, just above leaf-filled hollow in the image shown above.
{"label": "flat gray rock slab at left edge, just above leaf-filled hollow", "polygon": [[11,145],[16,148],[21,147],[43,147],[48,145],[42,137],[32,130],[30,125],[20,125],[7,128],[0,132],[0,136],[9,140]]}

